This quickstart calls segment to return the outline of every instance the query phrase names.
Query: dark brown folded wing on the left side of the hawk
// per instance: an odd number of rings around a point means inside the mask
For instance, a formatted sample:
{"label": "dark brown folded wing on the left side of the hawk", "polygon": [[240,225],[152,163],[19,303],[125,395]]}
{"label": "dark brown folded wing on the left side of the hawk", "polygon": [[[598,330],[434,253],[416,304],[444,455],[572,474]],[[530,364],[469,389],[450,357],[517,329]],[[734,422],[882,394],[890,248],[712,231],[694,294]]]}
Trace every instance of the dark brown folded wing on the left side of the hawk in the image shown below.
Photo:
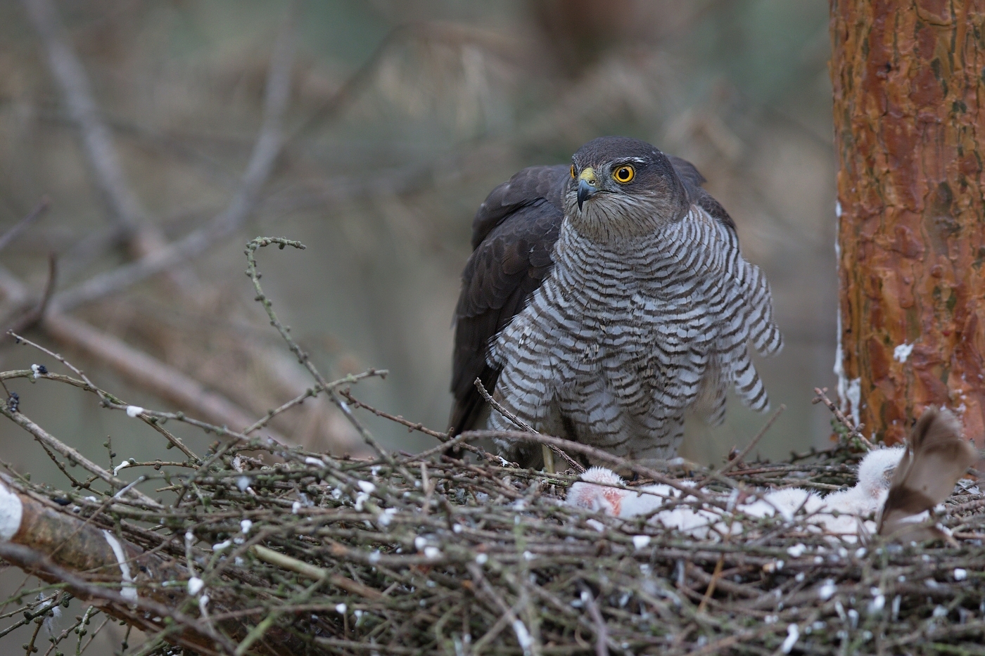
{"label": "dark brown folded wing on the left side of the hawk", "polygon": [[455,308],[451,392],[453,434],[473,427],[499,369],[489,366],[490,341],[526,306],[554,263],[551,253],[563,213],[567,165],[533,166],[493,189],[472,222],[472,256],[462,272]]}

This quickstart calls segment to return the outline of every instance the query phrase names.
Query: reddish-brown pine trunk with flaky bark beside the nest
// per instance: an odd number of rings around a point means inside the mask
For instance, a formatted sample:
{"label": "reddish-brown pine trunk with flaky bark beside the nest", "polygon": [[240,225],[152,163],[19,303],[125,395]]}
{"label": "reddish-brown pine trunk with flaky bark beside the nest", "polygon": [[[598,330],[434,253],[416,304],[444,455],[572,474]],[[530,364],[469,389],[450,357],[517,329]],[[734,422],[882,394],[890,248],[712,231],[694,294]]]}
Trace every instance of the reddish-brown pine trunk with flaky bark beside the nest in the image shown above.
{"label": "reddish-brown pine trunk with flaky bark beside the nest", "polygon": [[842,404],[890,443],[929,405],[980,440],[985,0],[830,3]]}

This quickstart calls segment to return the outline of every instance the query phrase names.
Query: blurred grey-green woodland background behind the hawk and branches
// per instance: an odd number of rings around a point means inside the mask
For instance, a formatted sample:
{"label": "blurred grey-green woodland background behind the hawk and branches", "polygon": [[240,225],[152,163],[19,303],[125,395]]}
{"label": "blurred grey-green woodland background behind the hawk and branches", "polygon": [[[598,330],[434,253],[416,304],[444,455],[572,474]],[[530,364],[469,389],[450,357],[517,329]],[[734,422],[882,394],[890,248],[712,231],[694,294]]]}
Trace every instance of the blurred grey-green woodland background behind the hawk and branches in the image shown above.
{"label": "blurred grey-green woodland background behind the hawk and branches", "polygon": [[[329,378],[389,369],[385,380],[361,382],[356,396],[443,430],[451,315],[476,208],[521,167],[566,163],[585,141],[621,134],[696,164],[738,224],[746,257],[772,284],[786,348],[758,366],[773,407],[787,411],[759,453],[785,457],[828,443],[827,411],[810,404],[815,386],[834,382],[825,0],[54,6],[56,39],[81,61],[123,183],[159,245],[212,226],[230,207],[264,121],[275,44],[294,47],[283,148],[244,220],[164,275],[71,308],[112,338],[111,348],[150,356],[250,417],[290,399],[311,381],[242,274],[247,239],[287,236],[307,249],[264,249],[259,263],[297,341]],[[278,41],[292,16],[294,36]],[[5,328],[45,289],[49,254],[58,300],[135,253],[52,73],[50,42],[26,4],[0,3],[0,233],[50,199],[0,253]],[[135,377],[126,366],[132,351],[113,363],[44,323],[26,334],[127,403],[195,414]],[[0,367],[33,362],[63,370],[4,337]],[[93,395],[23,380],[9,387],[24,413],[98,462],[108,457],[107,435],[115,462],[166,455],[150,428],[99,409]],[[360,412],[387,446],[435,443]],[[684,455],[718,462],[765,420],[733,402],[726,426],[689,426]],[[274,426],[310,447],[360,448],[321,400]],[[175,429],[205,448],[205,437]],[[31,436],[6,421],[0,458],[56,482]]]}

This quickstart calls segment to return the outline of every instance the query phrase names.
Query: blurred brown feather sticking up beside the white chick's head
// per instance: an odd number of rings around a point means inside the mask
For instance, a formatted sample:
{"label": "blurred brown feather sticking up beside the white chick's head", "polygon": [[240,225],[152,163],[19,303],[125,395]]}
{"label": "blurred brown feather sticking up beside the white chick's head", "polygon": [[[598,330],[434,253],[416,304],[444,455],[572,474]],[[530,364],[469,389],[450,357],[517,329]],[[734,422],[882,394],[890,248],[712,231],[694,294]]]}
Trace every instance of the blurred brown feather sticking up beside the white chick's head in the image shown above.
{"label": "blurred brown feather sticking up beside the white chick's head", "polygon": [[880,516],[880,535],[904,540],[935,537],[913,527],[911,518],[948,498],[977,458],[977,451],[961,437],[961,426],[950,411],[924,411],[906,440],[906,452],[892,477]]}

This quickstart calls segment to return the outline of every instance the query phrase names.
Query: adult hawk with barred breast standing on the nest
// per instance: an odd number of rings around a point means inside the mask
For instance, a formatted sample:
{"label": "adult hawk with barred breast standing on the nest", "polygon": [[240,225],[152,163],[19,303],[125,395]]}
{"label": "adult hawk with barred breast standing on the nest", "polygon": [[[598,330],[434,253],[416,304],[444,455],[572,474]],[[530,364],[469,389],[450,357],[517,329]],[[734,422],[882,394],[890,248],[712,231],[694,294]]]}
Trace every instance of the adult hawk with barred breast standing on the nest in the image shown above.
{"label": "adult hawk with barred breast standing on the nest", "polygon": [[[703,182],[650,144],[602,137],[493,189],[455,309],[454,434],[516,429],[476,378],[537,430],[634,460],[673,457],[689,410],[720,423],[729,387],[767,408],[749,344],[782,346],[769,286]],[[541,465],[536,445],[496,445]]]}

